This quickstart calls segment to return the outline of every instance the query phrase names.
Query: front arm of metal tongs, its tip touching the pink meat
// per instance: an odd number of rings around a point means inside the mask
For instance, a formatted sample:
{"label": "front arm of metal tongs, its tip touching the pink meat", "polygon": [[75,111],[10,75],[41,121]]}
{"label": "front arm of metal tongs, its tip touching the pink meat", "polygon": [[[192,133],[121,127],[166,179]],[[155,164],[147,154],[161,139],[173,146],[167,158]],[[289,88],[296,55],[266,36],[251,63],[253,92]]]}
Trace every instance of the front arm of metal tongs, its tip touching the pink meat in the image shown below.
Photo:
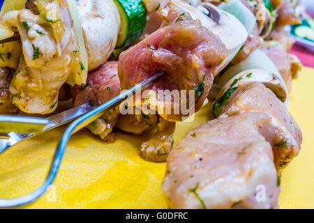
{"label": "front arm of metal tongs, its tip touching the pink meat", "polygon": [[24,195],[22,197],[17,197],[13,199],[0,199],[0,208],[21,206],[36,201],[36,199],[38,199],[41,195],[43,195],[46,192],[47,188],[53,183],[54,178],[57,176],[57,171],[60,167],[64,151],[66,151],[66,146],[68,145],[68,141],[71,135],[81,130],[86,125],[89,125],[89,123],[95,121],[100,116],[103,116],[105,112],[107,112],[108,110],[118,106],[130,95],[133,95],[135,91],[137,90],[142,91],[144,89],[147,89],[147,87],[153,84],[154,81],[156,81],[156,79],[158,79],[158,77],[160,77],[161,75],[163,75],[163,73],[160,73],[154,77],[151,77],[150,79],[145,80],[140,84],[137,84],[133,88],[124,91],[124,93],[121,93],[116,98],[113,98],[112,100],[106,102],[105,104],[96,107],[95,109],[91,110],[91,112],[88,112],[87,114],[84,114],[80,118],[77,118],[75,121],[73,121],[73,123],[71,123],[64,132],[61,141],[59,141],[59,144],[54,153],[54,157],[52,159],[52,164],[50,165],[50,171],[43,185],[40,185],[40,187],[38,187],[38,189],[35,190],[34,192],[31,192],[30,194]]}

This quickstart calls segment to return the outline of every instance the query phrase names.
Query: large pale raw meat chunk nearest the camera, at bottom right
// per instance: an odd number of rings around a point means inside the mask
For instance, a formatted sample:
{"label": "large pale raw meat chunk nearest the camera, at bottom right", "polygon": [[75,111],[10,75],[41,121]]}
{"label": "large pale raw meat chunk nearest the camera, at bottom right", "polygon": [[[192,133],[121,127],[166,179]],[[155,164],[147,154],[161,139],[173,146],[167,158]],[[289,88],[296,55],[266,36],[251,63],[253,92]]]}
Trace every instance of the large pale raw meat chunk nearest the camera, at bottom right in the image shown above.
{"label": "large pale raw meat chunk nearest the camera, at bottom right", "polygon": [[168,157],[170,208],[278,208],[271,117],[244,112],[191,130]]}

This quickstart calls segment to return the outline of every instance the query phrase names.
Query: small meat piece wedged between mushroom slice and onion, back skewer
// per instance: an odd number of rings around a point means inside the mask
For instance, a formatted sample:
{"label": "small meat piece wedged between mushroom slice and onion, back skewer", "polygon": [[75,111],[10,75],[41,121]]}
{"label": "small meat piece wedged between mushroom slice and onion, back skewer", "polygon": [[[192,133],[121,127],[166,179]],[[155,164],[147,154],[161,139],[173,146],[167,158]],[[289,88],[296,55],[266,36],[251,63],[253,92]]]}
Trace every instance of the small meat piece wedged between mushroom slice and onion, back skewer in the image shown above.
{"label": "small meat piece wedged between mushroom slice and onion, back skewer", "polygon": [[258,30],[257,24],[255,25],[252,32],[248,35],[246,43],[244,43],[243,49],[240,50],[239,54],[232,61],[233,64],[237,64],[244,61],[255,49],[260,47],[263,42],[263,38],[259,36],[260,31]]}

